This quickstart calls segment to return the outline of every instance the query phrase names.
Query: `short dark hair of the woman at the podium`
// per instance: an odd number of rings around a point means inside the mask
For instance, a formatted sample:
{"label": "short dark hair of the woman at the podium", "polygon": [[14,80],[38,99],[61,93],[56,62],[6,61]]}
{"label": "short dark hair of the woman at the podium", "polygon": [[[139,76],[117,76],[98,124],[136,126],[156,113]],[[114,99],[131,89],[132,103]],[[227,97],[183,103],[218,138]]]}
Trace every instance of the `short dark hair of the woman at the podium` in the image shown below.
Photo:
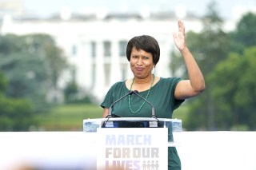
{"label": "short dark hair of the woman at the podium", "polygon": [[153,56],[154,65],[157,65],[160,58],[160,48],[158,42],[149,35],[142,35],[131,38],[126,47],[126,57],[130,61],[131,50],[135,47],[137,50],[142,49]]}

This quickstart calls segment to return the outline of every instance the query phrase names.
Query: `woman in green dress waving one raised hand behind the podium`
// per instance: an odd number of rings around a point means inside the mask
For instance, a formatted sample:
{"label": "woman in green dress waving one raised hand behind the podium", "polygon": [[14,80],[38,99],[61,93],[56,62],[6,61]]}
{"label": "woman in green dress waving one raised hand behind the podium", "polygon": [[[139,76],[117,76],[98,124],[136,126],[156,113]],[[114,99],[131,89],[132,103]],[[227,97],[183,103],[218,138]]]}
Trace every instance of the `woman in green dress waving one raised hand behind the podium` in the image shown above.
{"label": "woman in green dress waving one raised hand behind the podium", "polygon": [[[184,58],[189,80],[178,77],[154,77],[151,71],[160,57],[158,42],[147,35],[134,37],[126,48],[126,57],[130,61],[134,78],[112,85],[101,105],[104,108],[102,117],[108,115],[108,109],[114,101],[129,90],[138,90],[142,97],[154,105],[156,117],[172,118],[174,109],[177,109],[185,99],[195,97],[205,89],[202,72],[186,46],[185,27],[182,21],[178,21],[178,33],[174,33],[173,37]],[[119,117],[151,117],[151,107],[140,97],[129,95],[114,105],[112,113]],[[181,169],[181,162],[174,147],[168,148],[168,169]]]}

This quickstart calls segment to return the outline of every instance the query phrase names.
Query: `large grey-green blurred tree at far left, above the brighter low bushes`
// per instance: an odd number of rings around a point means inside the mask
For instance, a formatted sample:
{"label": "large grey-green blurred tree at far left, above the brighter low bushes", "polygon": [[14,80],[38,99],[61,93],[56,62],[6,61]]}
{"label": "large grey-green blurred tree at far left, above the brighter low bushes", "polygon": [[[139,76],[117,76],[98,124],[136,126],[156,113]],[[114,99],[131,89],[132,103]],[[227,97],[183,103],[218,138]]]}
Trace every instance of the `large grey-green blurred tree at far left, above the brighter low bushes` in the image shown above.
{"label": "large grey-green blurred tree at far left, above the brighter low bushes", "polygon": [[0,37],[0,69],[9,85],[6,97],[26,97],[35,112],[49,108],[46,95],[58,89],[58,79],[67,69],[62,50],[46,34]]}

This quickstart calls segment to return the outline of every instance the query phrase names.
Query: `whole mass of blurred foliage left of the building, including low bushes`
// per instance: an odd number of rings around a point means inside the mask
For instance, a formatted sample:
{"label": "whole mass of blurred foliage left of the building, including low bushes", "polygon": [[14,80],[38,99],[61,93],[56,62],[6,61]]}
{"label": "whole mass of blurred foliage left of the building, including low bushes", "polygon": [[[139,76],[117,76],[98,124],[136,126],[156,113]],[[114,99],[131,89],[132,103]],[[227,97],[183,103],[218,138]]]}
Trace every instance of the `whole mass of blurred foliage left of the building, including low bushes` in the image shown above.
{"label": "whole mass of blurred foliage left of the building, including low bushes", "polygon": [[47,94],[58,90],[66,60],[46,34],[0,36],[0,130],[27,131],[35,113],[52,105]]}

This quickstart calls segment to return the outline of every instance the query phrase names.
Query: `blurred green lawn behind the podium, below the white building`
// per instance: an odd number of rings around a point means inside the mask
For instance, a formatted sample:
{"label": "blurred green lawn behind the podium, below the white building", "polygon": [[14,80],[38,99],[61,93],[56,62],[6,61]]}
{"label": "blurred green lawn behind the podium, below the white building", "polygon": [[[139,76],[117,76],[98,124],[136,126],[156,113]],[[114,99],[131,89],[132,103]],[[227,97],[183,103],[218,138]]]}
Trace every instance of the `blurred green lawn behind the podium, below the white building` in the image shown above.
{"label": "blurred green lawn behind the podium, below the white building", "polygon": [[[50,113],[38,115],[39,130],[42,131],[82,131],[84,119],[101,118],[103,109],[99,105],[60,105]],[[186,105],[174,111],[173,118],[186,119]]]}

